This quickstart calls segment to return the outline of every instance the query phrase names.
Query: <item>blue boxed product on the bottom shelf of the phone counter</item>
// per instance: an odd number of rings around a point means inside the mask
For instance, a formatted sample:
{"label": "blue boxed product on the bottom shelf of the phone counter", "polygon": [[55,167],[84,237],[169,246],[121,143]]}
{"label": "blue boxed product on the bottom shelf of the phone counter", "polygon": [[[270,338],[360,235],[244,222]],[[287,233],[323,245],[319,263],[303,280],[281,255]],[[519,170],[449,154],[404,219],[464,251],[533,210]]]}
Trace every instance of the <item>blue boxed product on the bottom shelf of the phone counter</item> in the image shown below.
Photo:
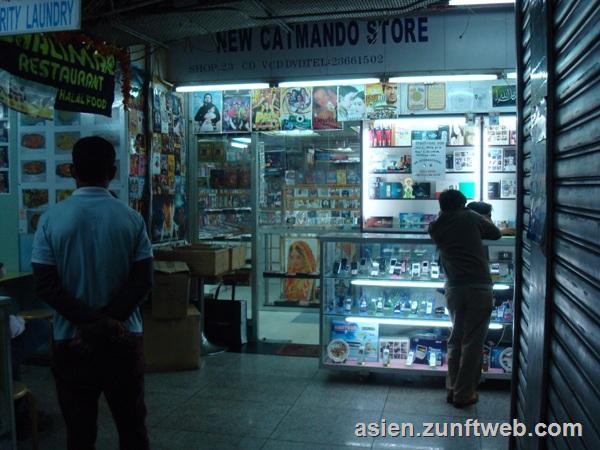
{"label": "blue boxed product on the bottom shelf of the phone counter", "polygon": [[348,344],[347,360],[356,361],[361,345],[365,347],[365,361],[377,362],[379,324],[355,323],[344,320],[331,322],[330,343],[343,341]]}

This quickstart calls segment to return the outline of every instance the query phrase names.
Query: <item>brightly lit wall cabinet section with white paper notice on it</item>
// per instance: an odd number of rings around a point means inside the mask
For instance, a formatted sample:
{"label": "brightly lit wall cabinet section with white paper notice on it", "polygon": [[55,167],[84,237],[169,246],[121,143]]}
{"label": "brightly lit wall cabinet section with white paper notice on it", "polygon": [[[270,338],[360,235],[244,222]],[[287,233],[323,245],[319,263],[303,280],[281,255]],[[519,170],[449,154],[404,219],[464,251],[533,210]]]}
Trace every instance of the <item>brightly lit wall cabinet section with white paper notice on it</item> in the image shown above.
{"label": "brightly lit wall cabinet section with white paper notice on it", "polygon": [[426,232],[445,189],[481,199],[480,116],[366,121],[362,139],[364,231]]}

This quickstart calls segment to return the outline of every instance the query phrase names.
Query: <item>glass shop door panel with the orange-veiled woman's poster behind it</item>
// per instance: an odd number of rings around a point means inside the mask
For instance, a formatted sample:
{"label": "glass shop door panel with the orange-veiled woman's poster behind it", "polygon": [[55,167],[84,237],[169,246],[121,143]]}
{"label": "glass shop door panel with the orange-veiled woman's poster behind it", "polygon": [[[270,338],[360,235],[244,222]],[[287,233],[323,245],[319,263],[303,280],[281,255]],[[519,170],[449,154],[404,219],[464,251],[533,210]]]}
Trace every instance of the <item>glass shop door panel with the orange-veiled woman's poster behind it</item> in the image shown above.
{"label": "glass shop door panel with the orange-veiled woman's poster behind it", "polygon": [[[263,309],[320,302],[324,231],[360,228],[360,124],[257,137],[257,272]],[[314,323],[318,318],[315,314]]]}

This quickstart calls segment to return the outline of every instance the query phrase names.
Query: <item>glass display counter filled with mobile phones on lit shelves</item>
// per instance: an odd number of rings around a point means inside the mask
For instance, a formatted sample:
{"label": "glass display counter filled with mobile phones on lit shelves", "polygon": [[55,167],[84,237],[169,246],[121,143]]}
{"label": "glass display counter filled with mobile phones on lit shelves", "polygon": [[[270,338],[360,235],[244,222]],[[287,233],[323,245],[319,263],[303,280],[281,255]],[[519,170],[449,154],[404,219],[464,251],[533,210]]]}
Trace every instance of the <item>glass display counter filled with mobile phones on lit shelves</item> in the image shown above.
{"label": "glass display counter filled with mobile phones on lit shelves", "polygon": [[[494,281],[484,376],[510,378],[514,238],[485,241]],[[320,237],[322,367],[445,375],[445,275],[425,235]]]}

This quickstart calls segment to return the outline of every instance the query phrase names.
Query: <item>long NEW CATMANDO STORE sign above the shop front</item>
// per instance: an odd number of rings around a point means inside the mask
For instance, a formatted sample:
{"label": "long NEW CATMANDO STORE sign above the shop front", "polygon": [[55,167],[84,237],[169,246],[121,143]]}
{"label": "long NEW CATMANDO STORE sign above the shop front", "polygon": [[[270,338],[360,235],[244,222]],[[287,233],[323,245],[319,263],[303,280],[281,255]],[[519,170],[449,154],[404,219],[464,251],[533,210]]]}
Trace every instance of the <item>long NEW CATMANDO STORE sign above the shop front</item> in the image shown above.
{"label": "long NEW CATMANDO STORE sign above the shop front", "polygon": [[513,67],[514,12],[481,12],[471,19],[456,12],[205,34],[170,46],[169,79],[205,84]]}

